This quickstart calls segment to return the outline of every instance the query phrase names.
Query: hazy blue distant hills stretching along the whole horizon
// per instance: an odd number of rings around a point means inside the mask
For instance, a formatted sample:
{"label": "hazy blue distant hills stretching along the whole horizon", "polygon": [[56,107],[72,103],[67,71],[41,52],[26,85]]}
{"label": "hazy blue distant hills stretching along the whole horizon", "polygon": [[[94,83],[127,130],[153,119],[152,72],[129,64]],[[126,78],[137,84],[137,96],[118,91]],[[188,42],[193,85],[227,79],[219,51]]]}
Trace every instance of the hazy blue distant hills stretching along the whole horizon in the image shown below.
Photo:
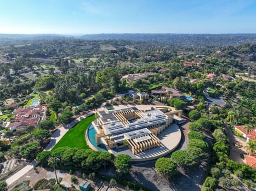
{"label": "hazy blue distant hills stretching along the whole horizon", "polygon": [[256,34],[112,33],[86,34],[81,36],[61,34],[0,34],[0,41],[2,42],[14,42],[15,40],[55,39],[152,41],[160,44],[180,46],[228,46],[244,43],[256,44]]}

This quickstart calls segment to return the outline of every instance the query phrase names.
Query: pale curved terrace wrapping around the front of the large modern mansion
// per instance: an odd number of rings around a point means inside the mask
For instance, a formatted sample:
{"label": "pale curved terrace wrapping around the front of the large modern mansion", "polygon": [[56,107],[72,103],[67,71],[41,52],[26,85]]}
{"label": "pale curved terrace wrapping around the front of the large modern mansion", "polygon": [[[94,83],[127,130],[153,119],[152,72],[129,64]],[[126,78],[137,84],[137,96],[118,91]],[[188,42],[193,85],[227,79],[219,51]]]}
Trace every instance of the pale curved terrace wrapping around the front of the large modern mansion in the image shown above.
{"label": "pale curved terrace wrapping around the front of the large modern mansion", "polygon": [[[160,139],[160,147],[152,148],[151,150],[147,150],[138,154],[133,154],[128,147],[112,148],[108,149],[108,151],[113,153],[114,156],[117,156],[118,154],[128,154],[130,157],[132,157],[133,162],[157,159],[173,152],[175,148],[179,146],[181,140],[181,131],[179,126],[173,123],[165,130],[163,130],[162,133],[157,135],[157,137]],[[106,145],[106,141],[104,139],[101,140]],[[86,141],[90,148],[98,151],[98,149],[94,147],[93,144],[89,141],[88,132],[86,132]]]}

